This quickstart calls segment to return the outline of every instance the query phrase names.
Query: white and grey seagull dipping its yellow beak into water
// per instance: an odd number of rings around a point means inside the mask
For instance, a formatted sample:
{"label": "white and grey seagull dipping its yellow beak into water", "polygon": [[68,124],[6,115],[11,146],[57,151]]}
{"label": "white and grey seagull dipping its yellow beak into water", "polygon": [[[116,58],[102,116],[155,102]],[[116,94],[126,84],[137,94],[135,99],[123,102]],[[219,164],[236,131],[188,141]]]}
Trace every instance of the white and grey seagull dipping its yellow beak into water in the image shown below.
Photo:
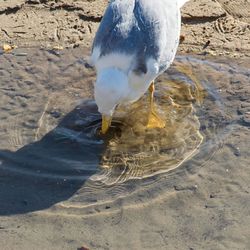
{"label": "white and grey seagull dipping its yellow beak into water", "polygon": [[188,0],[113,0],[95,35],[90,62],[97,77],[95,101],[105,134],[118,105],[150,92],[147,127],[163,128],[154,110],[154,80],[173,62],[179,45],[181,7]]}

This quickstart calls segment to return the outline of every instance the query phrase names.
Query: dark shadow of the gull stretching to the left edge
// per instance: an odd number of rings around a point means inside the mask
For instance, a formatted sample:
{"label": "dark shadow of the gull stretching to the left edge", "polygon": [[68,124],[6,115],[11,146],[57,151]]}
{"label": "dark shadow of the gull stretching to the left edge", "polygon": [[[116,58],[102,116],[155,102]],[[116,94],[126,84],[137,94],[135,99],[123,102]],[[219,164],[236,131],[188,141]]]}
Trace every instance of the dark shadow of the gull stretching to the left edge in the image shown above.
{"label": "dark shadow of the gull stretching to the left edge", "polygon": [[0,150],[0,215],[46,209],[77,192],[98,171],[106,147],[108,139],[96,135],[100,118],[86,102],[41,140]]}

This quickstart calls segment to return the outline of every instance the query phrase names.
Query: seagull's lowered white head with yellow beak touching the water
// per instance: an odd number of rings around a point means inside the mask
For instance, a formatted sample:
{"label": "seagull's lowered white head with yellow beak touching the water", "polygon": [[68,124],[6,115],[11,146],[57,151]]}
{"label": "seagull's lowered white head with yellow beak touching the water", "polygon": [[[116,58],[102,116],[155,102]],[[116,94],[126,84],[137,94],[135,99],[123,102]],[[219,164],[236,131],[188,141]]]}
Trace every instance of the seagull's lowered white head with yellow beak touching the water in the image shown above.
{"label": "seagull's lowered white head with yellow beak touching the water", "polygon": [[102,69],[97,73],[95,101],[102,114],[102,133],[110,127],[112,115],[117,105],[129,94],[127,75],[117,68]]}

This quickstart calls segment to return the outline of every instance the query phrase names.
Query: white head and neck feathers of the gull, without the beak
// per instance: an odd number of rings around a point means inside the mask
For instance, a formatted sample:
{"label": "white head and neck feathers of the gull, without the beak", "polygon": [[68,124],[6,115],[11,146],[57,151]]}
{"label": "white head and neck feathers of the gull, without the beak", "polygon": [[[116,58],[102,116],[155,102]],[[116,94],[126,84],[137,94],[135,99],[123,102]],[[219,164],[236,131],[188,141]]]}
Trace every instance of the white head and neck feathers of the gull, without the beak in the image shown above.
{"label": "white head and neck feathers of the gull, without the beak", "polygon": [[100,113],[111,116],[117,105],[134,102],[147,91],[159,74],[159,67],[152,58],[146,65],[147,73],[137,74],[131,70],[133,57],[119,53],[104,56],[95,63],[95,100]]}

